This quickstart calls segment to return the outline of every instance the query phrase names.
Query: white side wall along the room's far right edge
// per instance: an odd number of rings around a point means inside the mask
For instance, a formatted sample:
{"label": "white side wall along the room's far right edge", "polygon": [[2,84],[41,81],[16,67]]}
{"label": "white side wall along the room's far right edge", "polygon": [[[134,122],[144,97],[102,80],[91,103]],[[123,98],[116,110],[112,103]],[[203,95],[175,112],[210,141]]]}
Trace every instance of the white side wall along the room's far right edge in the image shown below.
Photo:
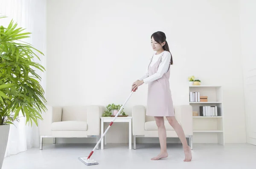
{"label": "white side wall along the room's far right edge", "polygon": [[256,145],[256,1],[241,0],[240,5],[247,142]]}

